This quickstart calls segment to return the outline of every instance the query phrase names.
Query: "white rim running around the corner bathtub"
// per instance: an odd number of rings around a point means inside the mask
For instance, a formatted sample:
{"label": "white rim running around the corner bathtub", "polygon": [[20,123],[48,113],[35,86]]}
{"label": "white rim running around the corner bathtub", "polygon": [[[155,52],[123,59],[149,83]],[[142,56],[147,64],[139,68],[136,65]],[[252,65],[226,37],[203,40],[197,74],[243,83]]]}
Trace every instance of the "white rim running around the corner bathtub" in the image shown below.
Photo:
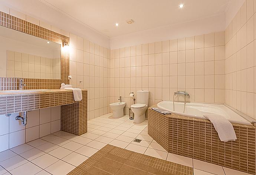
{"label": "white rim running around the corner bathtub", "polygon": [[[172,100],[163,100],[161,102],[173,102]],[[157,103],[157,107],[158,108],[161,108],[158,104],[161,103],[161,102],[158,102]],[[174,103],[184,103],[182,101],[174,101]],[[235,121],[230,121],[231,123],[237,123],[237,124],[240,124],[240,125],[252,125],[252,122],[256,122],[255,119],[251,118],[250,116],[246,116],[244,113],[238,111],[238,110],[235,110],[234,108],[231,108],[230,106],[226,105],[226,104],[223,104],[223,103],[204,103],[204,102],[186,102],[186,104],[191,104],[191,103],[201,103],[201,104],[209,104],[209,105],[224,105],[225,107],[229,108],[230,110],[232,110],[233,112],[237,113],[237,115],[240,115],[242,118],[244,118],[247,122],[235,122]],[[188,113],[181,113],[181,112],[177,112],[177,111],[173,111],[173,110],[170,110],[170,109],[166,109],[166,108],[161,108],[161,109],[164,109],[164,110],[167,110],[167,111],[170,111],[171,113],[174,113],[174,114],[177,114],[177,115],[182,115],[182,116],[187,116],[187,117],[192,117],[192,118],[199,118],[199,119],[206,119],[204,118],[203,116],[197,116],[197,115],[190,115]]]}

